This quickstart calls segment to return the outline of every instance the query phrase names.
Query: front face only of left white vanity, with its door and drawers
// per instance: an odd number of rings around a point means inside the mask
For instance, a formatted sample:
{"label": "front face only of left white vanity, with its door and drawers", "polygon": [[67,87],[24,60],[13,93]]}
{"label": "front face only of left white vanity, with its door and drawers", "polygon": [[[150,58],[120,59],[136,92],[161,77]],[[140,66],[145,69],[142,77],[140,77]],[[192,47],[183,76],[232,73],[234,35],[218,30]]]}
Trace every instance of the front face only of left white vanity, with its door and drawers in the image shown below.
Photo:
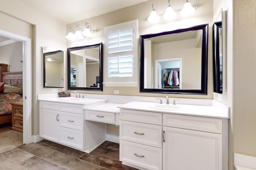
{"label": "front face only of left white vanity, with its door and drawers", "polygon": [[40,101],[40,137],[84,149],[83,105]]}

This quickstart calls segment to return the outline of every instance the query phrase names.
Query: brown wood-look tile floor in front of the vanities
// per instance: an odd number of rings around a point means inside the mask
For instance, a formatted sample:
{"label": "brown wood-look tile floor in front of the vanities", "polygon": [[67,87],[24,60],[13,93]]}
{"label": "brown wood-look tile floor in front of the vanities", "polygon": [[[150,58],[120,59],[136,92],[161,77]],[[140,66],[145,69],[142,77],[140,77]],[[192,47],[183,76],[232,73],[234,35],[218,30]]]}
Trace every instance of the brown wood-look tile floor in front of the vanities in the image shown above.
{"label": "brown wood-look tile floor in front of the vanities", "polygon": [[0,170],[137,170],[119,161],[119,144],[105,141],[85,153],[43,140],[0,154]]}

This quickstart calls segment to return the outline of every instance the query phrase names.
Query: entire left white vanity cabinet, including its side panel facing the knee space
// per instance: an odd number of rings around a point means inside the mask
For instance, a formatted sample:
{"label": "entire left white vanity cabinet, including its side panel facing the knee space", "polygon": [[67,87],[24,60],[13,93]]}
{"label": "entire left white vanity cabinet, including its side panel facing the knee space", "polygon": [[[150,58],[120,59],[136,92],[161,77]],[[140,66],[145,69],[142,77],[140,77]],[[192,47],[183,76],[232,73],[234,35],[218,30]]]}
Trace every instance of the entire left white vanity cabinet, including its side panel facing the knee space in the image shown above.
{"label": "entire left white vanity cabinet, including its side panel facing the knee space", "polygon": [[[105,100],[98,101],[102,102]],[[106,140],[106,124],[86,121],[84,107],[84,104],[40,101],[40,137],[90,153]]]}

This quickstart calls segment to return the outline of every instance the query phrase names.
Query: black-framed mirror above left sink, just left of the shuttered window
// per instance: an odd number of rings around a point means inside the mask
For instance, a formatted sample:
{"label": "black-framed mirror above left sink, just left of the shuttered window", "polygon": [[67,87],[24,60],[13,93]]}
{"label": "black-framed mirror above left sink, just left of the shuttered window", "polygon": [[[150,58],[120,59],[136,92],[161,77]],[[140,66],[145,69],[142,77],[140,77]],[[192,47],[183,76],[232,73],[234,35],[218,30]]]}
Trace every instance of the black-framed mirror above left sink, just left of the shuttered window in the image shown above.
{"label": "black-framed mirror above left sink, just left of the shuttered window", "polygon": [[102,43],[68,48],[68,90],[103,91]]}

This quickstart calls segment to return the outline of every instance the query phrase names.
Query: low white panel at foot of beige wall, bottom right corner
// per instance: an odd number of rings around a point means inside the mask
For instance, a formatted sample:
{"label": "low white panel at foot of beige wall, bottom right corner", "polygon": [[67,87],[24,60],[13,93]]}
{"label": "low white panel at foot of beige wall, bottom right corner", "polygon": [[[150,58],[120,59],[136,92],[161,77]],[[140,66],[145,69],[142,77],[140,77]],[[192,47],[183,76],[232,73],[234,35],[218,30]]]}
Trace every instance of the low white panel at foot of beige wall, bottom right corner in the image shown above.
{"label": "low white panel at foot of beige wall, bottom right corner", "polygon": [[256,170],[256,157],[234,153],[234,165],[243,166],[244,168],[247,169],[251,168],[253,170]]}

